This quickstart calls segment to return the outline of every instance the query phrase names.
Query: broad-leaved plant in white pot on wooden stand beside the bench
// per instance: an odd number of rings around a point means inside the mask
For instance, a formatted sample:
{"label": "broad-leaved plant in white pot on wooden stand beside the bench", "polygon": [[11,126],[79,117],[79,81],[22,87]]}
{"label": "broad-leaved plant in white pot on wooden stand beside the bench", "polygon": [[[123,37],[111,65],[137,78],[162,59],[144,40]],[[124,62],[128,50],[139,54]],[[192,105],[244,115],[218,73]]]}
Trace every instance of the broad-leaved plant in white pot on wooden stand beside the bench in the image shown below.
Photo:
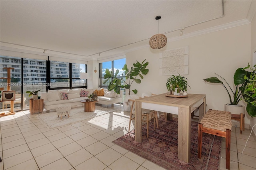
{"label": "broad-leaved plant in white pot on wooden stand beside the bench", "polygon": [[[241,70],[242,70],[242,68],[237,70],[237,71],[241,71]],[[214,73],[214,74],[216,74],[216,73]],[[218,74],[216,74],[216,75],[218,75]],[[208,83],[217,83],[217,84],[223,85],[223,87],[226,89],[226,91],[228,93],[228,97],[229,97],[229,100],[230,100],[230,103],[227,103],[227,104],[224,105],[225,106],[225,111],[230,111],[232,113],[233,117],[238,117],[238,116],[240,117],[240,113],[244,113],[244,111],[245,111],[244,106],[238,104],[239,101],[242,99],[243,83],[236,84],[235,82],[238,79],[240,79],[240,77],[238,77],[237,73],[234,74],[234,83],[236,85],[236,89],[235,90],[233,90],[230,87],[228,82],[223,77],[221,77],[220,75],[218,75],[218,77],[220,77],[222,80],[224,80],[226,85],[228,85],[228,88],[217,77],[209,77],[207,79],[204,79],[204,81],[208,82]],[[243,77],[242,77],[242,79],[243,79]],[[230,94],[232,94],[232,95],[230,95]]]}

